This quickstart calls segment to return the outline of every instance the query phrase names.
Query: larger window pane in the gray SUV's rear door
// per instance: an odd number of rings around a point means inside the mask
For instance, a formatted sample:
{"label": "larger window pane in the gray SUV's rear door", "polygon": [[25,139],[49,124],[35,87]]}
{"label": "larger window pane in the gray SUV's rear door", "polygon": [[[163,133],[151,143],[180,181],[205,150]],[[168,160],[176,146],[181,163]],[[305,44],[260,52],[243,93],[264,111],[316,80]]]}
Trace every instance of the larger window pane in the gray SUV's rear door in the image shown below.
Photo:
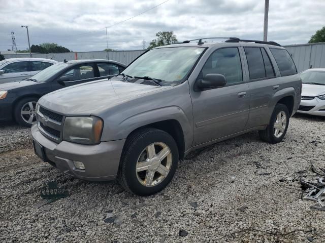
{"label": "larger window pane in the gray SUV's rear door", "polygon": [[244,50],[248,63],[249,78],[266,77],[261,49],[259,47],[245,47]]}

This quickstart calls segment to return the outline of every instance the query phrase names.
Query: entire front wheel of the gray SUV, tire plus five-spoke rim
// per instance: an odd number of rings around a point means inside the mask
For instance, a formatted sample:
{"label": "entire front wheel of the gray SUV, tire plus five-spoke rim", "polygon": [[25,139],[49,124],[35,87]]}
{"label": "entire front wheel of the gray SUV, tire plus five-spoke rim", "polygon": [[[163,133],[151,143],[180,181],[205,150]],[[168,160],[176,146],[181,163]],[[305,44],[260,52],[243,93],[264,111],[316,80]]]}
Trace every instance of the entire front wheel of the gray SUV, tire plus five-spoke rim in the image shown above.
{"label": "entire front wheel of the gray SUV, tire plus five-spoke rim", "polygon": [[[161,156],[163,159],[160,161],[158,156],[163,153],[166,156]],[[140,161],[146,164],[139,165]],[[171,135],[158,129],[140,129],[125,142],[117,180],[126,190],[148,196],[168,185],[174,177],[177,164],[178,148]]]}

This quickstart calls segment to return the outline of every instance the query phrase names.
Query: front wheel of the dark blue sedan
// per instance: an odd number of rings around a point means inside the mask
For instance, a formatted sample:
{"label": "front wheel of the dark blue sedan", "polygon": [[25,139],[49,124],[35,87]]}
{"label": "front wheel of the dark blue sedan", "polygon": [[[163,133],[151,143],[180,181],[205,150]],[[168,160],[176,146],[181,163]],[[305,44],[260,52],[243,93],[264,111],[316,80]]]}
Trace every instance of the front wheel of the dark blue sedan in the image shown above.
{"label": "front wheel of the dark blue sedan", "polygon": [[[32,123],[36,121],[36,103],[38,101],[37,97],[26,97],[18,101],[14,107],[14,118],[16,122],[24,127],[31,127]],[[32,109],[31,109],[31,105]],[[22,114],[24,112],[25,114]],[[31,123],[30,117],[32,116]]]}

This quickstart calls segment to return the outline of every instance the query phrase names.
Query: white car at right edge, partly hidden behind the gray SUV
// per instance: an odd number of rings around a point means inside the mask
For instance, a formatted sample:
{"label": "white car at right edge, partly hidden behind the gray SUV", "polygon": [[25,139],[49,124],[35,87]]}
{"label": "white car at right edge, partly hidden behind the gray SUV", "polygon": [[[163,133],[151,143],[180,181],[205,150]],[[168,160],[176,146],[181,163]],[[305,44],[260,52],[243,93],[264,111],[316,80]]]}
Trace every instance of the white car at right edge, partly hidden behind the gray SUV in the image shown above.
{"label": "white car at right edge, partly hidden behind the gray SUV", "polygon": [[300,73],[303,82],[299,113],[325,116],[325,68],[312,68]]}

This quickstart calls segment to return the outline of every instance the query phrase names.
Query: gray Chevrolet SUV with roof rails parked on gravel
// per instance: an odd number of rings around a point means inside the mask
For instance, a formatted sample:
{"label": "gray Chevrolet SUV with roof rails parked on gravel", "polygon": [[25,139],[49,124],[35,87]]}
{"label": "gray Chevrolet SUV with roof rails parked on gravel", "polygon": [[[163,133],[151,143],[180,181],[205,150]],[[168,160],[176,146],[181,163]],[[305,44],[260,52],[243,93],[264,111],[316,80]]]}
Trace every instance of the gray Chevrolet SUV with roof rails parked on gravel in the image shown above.
{"label": "gray Chevrolet SUV with roof rails parked on gravel", "polygon": [[31,134],[35,152],[62,172],[117,178],[150,195],[194,149],[253,130],[280,142],[300,100],[296,66],[277,43],[200,39],[151,49],[110,80],[43,96]]}

